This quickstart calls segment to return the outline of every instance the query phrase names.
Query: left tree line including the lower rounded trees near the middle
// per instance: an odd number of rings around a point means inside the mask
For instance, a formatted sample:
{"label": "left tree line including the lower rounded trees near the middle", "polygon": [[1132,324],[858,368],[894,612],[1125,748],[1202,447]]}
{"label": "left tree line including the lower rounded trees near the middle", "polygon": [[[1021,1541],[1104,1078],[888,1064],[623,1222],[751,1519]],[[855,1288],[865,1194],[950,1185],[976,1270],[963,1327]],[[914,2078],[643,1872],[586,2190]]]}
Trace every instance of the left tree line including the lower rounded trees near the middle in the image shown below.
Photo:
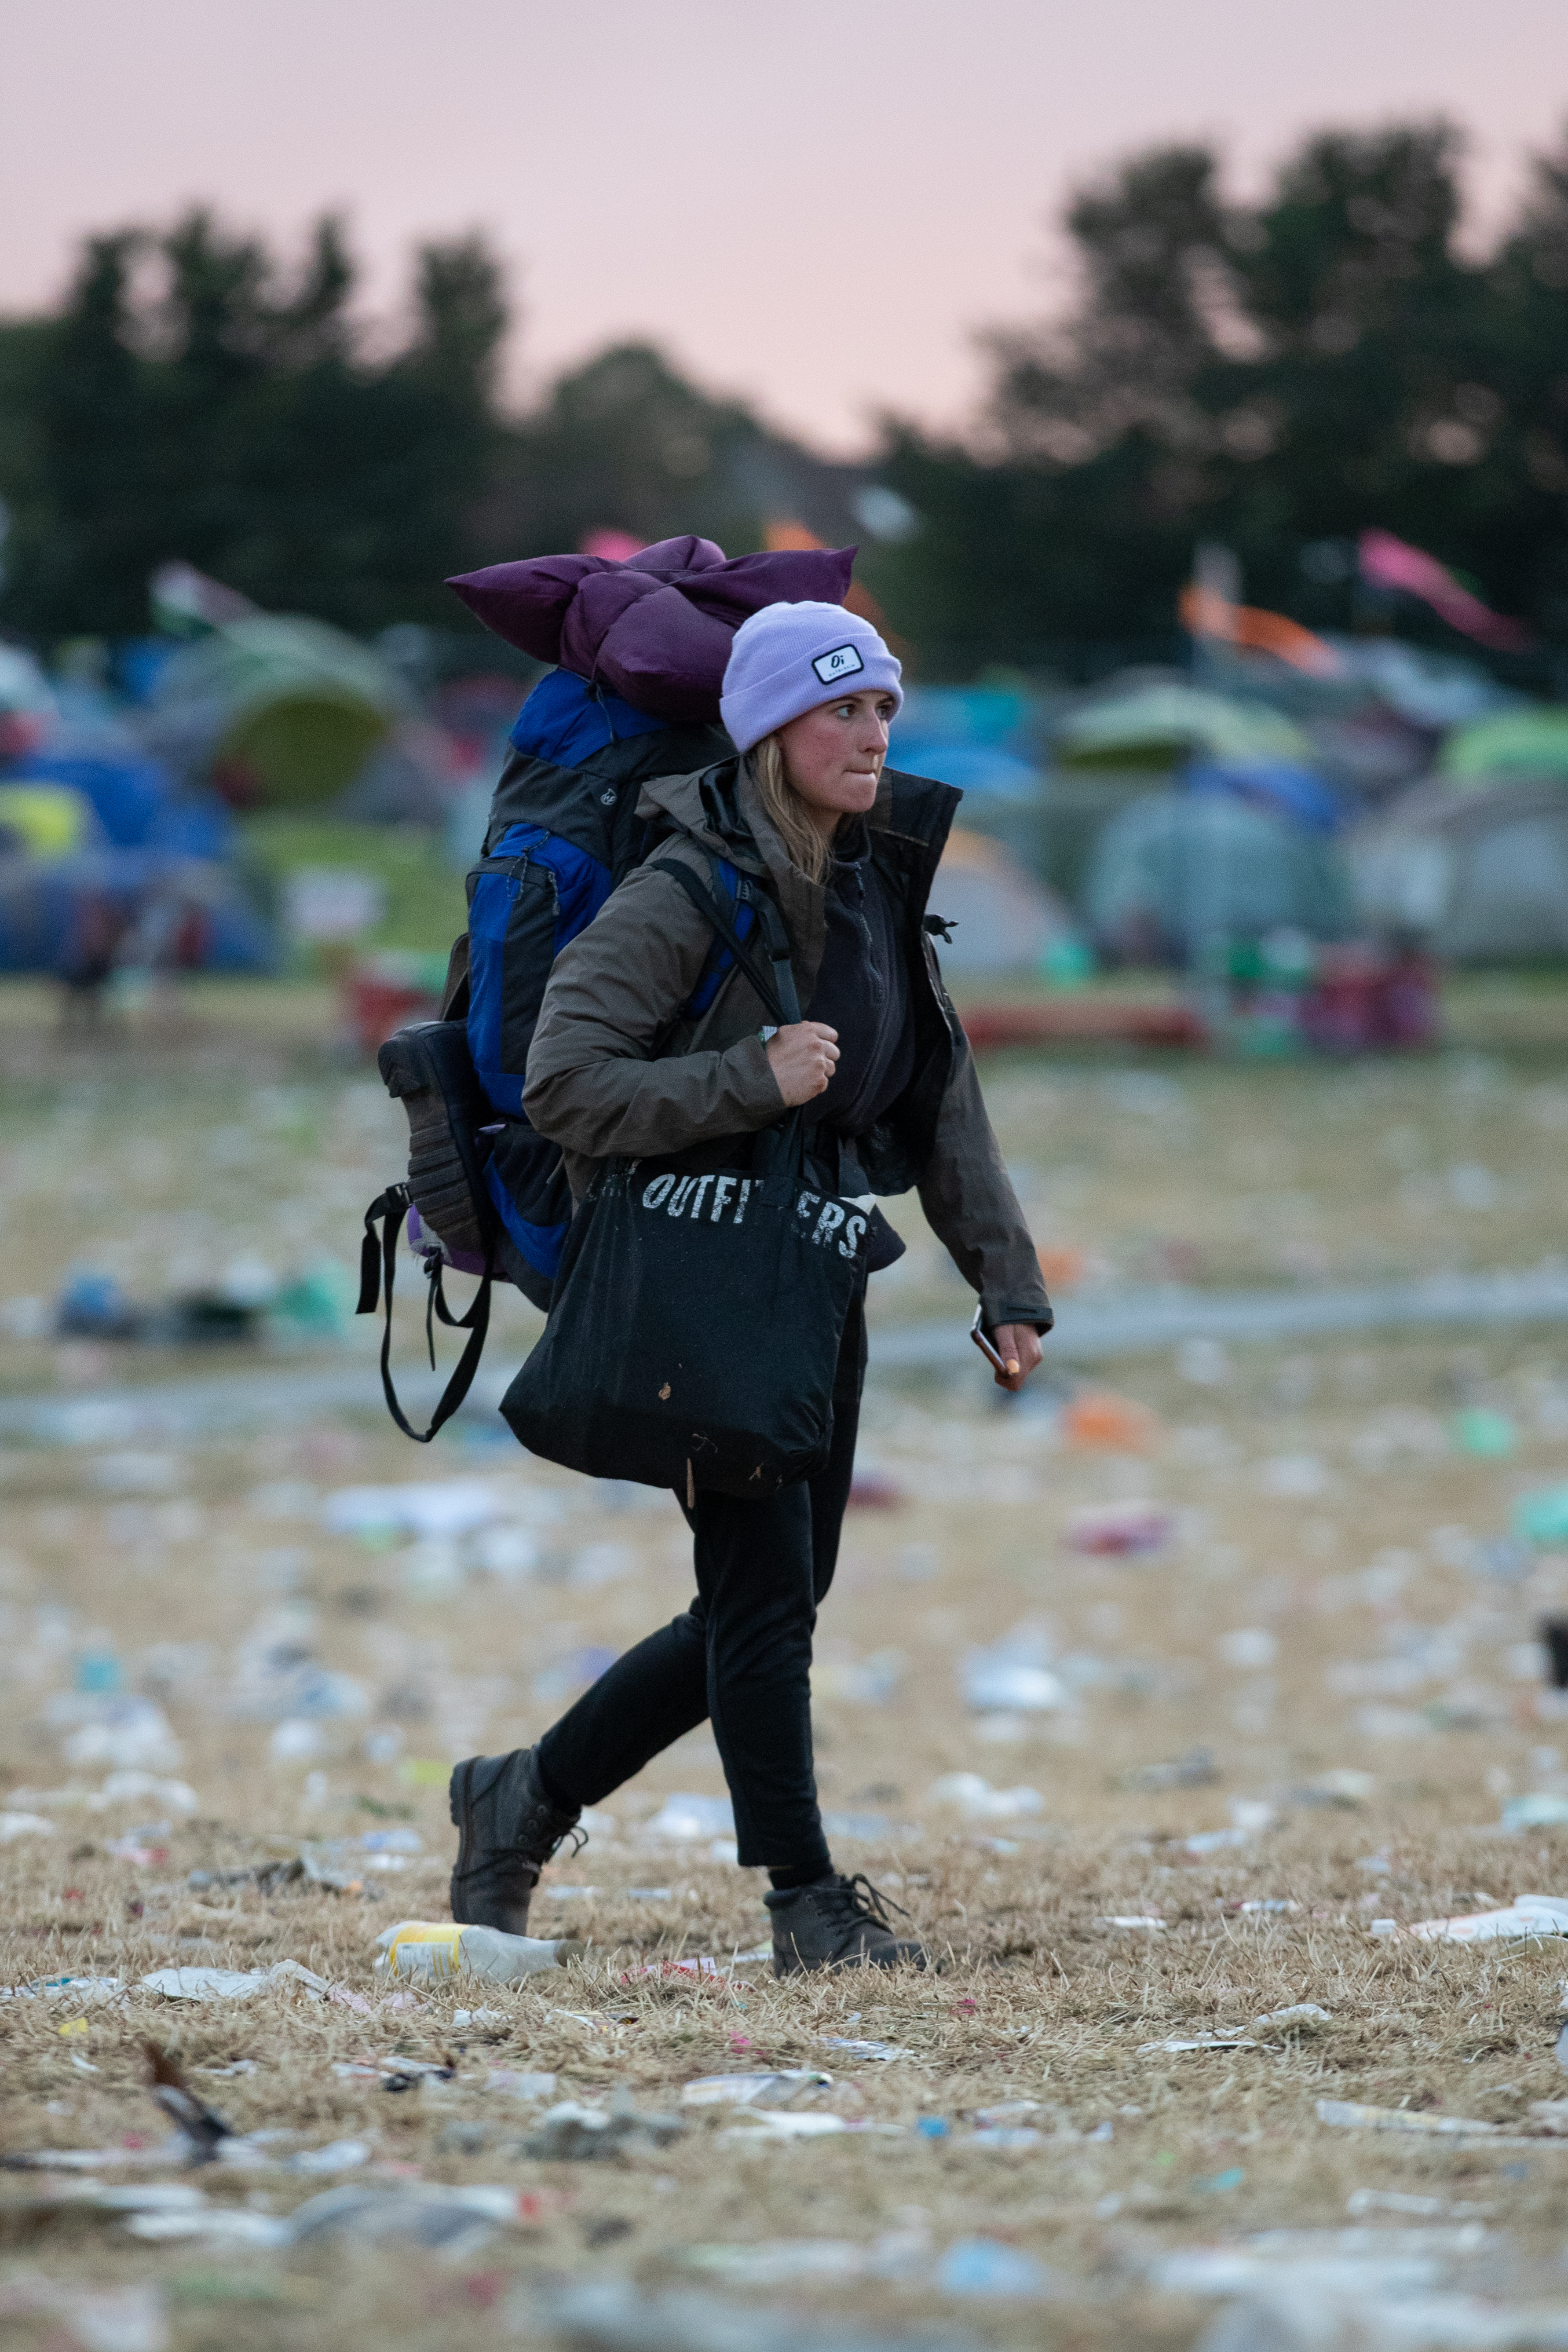
{"label": "left tree line including the lower rounded trees near the middle", "polygon": [[837,470],[644,346],[602,353],[508,419],[508,303],[480,238],[414,259],[414,322],[378,350],[353,313],[343,230],[289,278],[207,212],[82,247],[54,318],[0,325],[0,623],[136,635],[169,557],[275,612],[350,630],[477,630],[449,572],[820,508]]}

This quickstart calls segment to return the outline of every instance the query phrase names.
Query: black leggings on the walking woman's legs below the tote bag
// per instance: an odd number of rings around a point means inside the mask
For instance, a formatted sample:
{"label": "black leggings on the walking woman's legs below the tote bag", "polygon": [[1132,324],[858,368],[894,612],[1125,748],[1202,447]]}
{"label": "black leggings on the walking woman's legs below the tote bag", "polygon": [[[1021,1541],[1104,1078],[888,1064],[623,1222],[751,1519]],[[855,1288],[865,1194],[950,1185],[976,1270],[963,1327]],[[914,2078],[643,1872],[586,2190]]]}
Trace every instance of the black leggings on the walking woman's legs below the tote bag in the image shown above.
{"label": "black leggings on the walking woman's legs below the tote bag", "polygon": [[599,1804],[710,1717],[736,1806],[741,1863],[802,1879],[830,1867],[811,1769],[811,1632],[839,1557],[863,1374],[865,1324],[856,1301],[844,1324],[825,1465],[766,1503],[701,1494],[686,1510],[696,1599],[616,1658],[545,1731],[538,1769],[557,1802]]}

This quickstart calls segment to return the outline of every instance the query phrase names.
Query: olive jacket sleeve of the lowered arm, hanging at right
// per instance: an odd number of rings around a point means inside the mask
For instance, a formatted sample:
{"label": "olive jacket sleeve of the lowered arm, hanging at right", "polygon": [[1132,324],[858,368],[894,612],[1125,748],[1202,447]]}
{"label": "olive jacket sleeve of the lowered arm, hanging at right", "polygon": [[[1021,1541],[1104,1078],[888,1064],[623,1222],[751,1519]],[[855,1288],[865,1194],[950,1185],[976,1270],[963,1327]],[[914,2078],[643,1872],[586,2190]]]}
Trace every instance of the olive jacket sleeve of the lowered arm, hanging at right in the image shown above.
{"label": "olive jacket sleeve of the lowered arm, hanging at right", "polygon": [[1001,1164],[976,1058],[961,1030],[936,1122],[936,1145],[919,1178],[919,1204],[957,1270],[980,1294],[980,1322],[987,1331],[1004,1322],[1051,1329],[1056,1317],[1039,1275],[1039,1256]]}

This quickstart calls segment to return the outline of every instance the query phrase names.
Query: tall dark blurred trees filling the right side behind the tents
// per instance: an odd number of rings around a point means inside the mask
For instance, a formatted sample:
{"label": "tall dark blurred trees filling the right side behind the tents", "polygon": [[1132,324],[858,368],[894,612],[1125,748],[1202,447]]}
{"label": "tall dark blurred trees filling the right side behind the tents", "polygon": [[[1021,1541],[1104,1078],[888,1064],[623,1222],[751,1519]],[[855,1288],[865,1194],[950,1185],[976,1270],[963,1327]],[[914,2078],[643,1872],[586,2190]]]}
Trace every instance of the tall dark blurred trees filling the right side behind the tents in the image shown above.
{"label": "tall dark blurred trees filling the right side behind the tents", "polygon": [[[889,421],[924,529],[867,567],[945,675],[1173,647],[1197,541],[1316,628],[1378,619],[1354,541],[1396,532],[1568,647],[1568,146],[1488,254],[1446,125],[1305,141],[1255,205],[1208,148],[1126,162],[1067,212],[1065,322],[990,336],[978,430]],[[1406,635],[1462,647],[1420,607]]]}

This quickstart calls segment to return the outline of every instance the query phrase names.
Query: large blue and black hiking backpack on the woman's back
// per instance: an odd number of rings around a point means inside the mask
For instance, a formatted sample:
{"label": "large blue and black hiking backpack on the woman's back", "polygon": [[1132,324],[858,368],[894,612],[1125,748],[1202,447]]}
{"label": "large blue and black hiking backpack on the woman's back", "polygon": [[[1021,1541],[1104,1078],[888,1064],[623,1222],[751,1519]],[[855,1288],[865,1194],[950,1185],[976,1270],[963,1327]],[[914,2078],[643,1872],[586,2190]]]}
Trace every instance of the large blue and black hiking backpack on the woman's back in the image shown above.
{"label": "large blue and black hiking backpack on the woman's back", "polygon": [[[400,1028],[381,1047],[381,1077],[409,1117],[407,1183],[388,1185],[364,1211],[360,1315],[386,1301],[381,1385],[388,1411],[416,1444],[428,1444],[468,1395],[494,1282],[512,1282],[534,1305],[550,1305],[555,1270],[571,1228],[571,1190],[559,1145],[522,1108],[527,1056],[550,967],[621,882],[656,847],[637,821],[651,776],[684,774],[733,757],[717,727],[670,727],[552,670],[522,708],[484,833],[468,870],[468,931],[454,943],[440,1021]],[[736,868],[712,861],[745,941],[755,910]],[[684,1011],[708,1011],[733,953],[715,938]],[[425,1334],[435,1367],[435,1322],[465,1331],[463,1355],[428,1430],[407,1421],[390,1371],[393,1270],[397,1237],[423,1258]],[[454,1317],[444,1268],[477,1275],[480,1289]]]}

